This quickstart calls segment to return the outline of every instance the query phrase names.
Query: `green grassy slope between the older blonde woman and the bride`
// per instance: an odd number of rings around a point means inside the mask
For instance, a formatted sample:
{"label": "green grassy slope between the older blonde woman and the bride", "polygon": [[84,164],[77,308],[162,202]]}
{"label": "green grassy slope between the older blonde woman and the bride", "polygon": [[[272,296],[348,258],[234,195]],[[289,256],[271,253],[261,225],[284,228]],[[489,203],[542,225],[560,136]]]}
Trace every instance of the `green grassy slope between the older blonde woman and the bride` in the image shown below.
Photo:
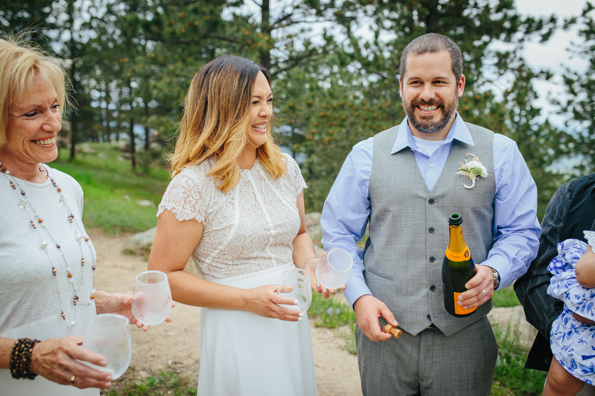
{"label": "green grassy slope between the older blonde woman and the bride", "polygon": [[[165,169],[152,166],[145,174],[136,173],[114,145],[86,145],[95,152],[79,152],[76,160],[68,161],[68,153],[61,151],[58,160],[50,164],[82,186],[85,227],[101,227],[107,234],[154,227],[157,205],[170,181]],[[152,206],[140,206],[139,200],[148,200]]]}

